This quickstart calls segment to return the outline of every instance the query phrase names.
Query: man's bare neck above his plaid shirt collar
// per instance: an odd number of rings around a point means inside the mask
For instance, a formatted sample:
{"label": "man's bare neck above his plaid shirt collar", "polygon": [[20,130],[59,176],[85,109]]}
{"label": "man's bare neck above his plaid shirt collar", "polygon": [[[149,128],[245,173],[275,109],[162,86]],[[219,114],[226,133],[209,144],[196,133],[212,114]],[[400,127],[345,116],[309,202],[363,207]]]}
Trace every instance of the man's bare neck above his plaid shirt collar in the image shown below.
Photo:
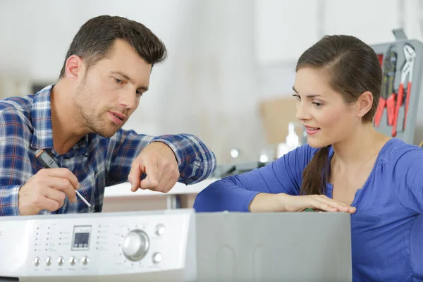
{"label": "man's bare neck above his plaid shirt collar", "polygon": [[75,109],[70,82],[59,80],[51,90],[50,101],[54,151],[66,154],[89,132],[81,124]]}

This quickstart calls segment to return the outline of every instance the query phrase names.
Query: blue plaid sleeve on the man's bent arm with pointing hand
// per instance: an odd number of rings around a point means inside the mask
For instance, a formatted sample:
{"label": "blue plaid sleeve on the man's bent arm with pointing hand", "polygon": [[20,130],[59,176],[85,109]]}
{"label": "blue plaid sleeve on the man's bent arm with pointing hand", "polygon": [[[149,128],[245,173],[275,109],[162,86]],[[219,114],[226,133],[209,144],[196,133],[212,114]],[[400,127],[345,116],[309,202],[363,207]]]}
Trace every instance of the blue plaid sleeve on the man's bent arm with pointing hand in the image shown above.
{"label": "blue plaid sleeve on the man's bent arm with pointing hand", "polygon": [[151,142],[164,142],[173,150],[179,165],[180,183],[188,185],[200,182],[216,168],[214,153],[194,135],[152,137],[139,135],[133,130],[119,130],[109,142],[106,186],[127,181],[133,160]]}

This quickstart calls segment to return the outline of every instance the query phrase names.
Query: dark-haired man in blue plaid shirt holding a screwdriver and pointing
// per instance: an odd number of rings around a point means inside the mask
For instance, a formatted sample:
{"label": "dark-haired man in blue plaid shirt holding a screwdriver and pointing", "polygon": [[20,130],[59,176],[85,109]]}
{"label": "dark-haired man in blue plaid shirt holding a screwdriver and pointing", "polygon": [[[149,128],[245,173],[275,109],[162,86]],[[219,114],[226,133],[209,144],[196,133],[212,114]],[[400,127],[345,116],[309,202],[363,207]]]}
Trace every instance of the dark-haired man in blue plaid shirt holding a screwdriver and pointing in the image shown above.
{"label": "dark-haired man in blue plaid shirt holding a screwdriver and pointing", "polygon": [[[99,16],[80,27],[55,85],[0,100],[0,215],[87,212],[75,190],[101,212],[109,185],[168,192],[207,178],[216,159],[197,137],[121,129],[165,58],[144,25]],[[60,168],[43,169],[37,149]]]}

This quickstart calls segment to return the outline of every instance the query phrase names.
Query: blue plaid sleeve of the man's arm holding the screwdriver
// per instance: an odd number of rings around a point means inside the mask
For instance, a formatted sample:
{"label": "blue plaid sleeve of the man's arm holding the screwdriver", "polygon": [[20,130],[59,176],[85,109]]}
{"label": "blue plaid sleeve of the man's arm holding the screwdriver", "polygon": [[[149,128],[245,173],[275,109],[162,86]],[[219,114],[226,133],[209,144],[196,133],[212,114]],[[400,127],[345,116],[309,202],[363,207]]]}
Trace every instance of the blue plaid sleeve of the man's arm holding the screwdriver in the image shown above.
{"label": "blue plaid sleeve of the man's arm holding the screwdriver", "polygon": [[0,216],[19,215],[19,189],[30,176],[25,172],[25,123],[18,114],[0,111]]}

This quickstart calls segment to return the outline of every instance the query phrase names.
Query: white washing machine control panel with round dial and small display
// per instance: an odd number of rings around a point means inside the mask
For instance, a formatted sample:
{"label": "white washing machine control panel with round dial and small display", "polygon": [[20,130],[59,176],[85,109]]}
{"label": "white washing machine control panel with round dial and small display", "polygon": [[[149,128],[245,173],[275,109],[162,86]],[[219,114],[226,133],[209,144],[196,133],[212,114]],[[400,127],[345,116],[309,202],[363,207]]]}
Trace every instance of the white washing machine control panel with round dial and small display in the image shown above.
{"label": "white washing machine control panel with round dial and small display", "polygon": [[182,269],[192,216],[190,210],[173,210],[0,221],[0,249],[6,237],[16,244],[14,259],[0,258],[0,273],[94,276]]}

